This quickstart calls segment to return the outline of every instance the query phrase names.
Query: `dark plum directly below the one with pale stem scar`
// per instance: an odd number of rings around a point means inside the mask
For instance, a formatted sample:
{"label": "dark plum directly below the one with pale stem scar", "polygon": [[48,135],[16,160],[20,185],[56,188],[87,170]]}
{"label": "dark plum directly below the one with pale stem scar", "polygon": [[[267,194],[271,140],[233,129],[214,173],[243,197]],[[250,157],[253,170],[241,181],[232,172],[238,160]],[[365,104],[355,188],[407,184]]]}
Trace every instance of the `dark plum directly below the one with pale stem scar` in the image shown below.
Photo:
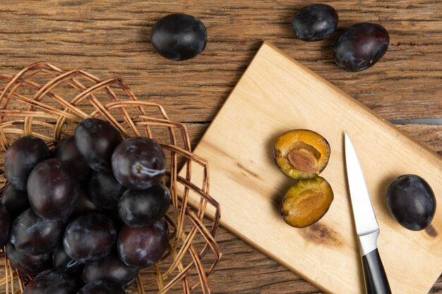
{"label": "dark plum directly below the one with pale stem scar", "polygon": [[157,184],[146,190],[127,190],[118,203],[119,216],[126,225],[141,228],[165,216],[170,205],[169,189]]}

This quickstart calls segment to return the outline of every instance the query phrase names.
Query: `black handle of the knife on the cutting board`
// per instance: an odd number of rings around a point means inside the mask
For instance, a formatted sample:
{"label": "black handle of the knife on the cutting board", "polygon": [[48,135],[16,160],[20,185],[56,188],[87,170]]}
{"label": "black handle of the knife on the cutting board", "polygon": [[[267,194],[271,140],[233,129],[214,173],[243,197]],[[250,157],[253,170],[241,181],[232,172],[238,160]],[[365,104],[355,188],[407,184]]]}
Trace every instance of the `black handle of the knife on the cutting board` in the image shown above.
{"label": "black handle of the knife on the cutting board", "polygon": [[377,249],[362,257],[367,294],[391,294],[386,271]]}

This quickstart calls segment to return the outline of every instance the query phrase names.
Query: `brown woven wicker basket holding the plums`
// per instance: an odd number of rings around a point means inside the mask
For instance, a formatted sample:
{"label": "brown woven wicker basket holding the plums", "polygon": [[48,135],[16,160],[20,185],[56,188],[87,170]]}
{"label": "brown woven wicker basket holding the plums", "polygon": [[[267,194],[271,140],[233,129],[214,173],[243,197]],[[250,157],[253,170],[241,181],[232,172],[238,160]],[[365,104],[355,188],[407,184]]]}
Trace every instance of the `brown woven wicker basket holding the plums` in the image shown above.
{"label": "brown woven wicker basket holding the plums", "polygon": [[[64,72],[48,63],[34,63],[17,75],[0,74],[0,164],[11,142],[23,135],[35,135],[50,148],[84,118],[102,118],[124,137],[145,135],[160,142],[167,155],[166,183],[172,195],[167,214],[170,245],[167,254],[150,269],[140,272],[129,290],[145,293],[158,289],[166,293],[210,293],[208,275],[220,259],[215,241],[220,207],[208,195],[208,165],[191,153],[186,127],[170,121],[159,104],[138,101],[120,78],[100,80],[85,71]],[[179,167],[186,168],[179,174]],[[193,183],[191,169],[203,169],[202,183]],[[0,172],[0,193],[6,184]],[[181,175],[181,176],[180,176]],[[199,204],[188,205],[189,194]],[[215,218],[205,218],[205,210]],[[0,250],[0,293],[22,293],[32,278],[11,266]],[[156,286],[155,286],[156,285]]]}

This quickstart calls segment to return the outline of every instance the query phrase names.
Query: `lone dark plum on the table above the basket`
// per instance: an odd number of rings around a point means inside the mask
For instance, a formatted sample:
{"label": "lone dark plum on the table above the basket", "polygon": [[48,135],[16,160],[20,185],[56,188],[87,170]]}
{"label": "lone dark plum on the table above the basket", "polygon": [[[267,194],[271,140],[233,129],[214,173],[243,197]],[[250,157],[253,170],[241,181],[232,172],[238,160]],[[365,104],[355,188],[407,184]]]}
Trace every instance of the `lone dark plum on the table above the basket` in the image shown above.
{"label": "lone dark plum on the table above the basket", "polygon": [[150,41],[155,50],[166,59],[184,61],[204,51],[207,30],[198,18],[174,13],[153,25]]}

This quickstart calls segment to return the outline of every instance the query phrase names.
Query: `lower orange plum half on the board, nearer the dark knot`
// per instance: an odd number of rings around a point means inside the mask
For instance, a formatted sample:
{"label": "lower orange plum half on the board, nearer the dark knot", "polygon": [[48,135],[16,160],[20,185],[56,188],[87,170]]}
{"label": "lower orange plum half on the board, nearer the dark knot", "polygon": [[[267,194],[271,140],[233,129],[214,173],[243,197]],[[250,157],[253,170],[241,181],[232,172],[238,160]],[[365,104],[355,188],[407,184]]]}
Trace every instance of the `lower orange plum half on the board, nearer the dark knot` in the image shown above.
{"label": "lower orange plum half on the board, nearer the dark knot", "polygon": [[321,219],[332,202],[333,190],[324,178],[298,180],[282,199],[281,215],[290,226],[304,228]]}

